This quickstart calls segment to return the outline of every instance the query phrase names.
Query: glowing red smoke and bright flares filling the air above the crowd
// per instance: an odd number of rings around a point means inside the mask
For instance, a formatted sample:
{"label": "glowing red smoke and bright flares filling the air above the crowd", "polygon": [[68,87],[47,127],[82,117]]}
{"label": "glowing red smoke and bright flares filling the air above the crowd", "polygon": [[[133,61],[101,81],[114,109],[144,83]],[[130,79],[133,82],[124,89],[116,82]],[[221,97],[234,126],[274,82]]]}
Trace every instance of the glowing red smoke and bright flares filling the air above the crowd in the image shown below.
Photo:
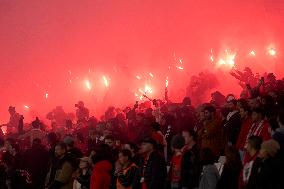
{"label": "glowing red smoke and bright flares filling the air above the crowd", "polygon": [[1,1],[0,120],[10,105],[28,121],[58,105],[74,111],[78,100],[99,117],[145,92],[163,98],[168,85],[170,100],[181,101],[203,71],[219,80],[212,90],[236,95],[233,67],[281,78],[284,3],[277,2]]}

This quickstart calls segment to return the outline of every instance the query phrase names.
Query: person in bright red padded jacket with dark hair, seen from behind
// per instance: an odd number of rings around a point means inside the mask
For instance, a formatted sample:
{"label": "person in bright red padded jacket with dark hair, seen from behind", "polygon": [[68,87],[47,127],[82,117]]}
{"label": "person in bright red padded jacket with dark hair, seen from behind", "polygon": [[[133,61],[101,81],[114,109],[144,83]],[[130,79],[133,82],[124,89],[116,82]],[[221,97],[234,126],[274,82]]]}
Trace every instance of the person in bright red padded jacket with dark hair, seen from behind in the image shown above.
{"label": "person in bright red padded jacket with dark hair, seen from behind", "polygon": [[96,147],[95,155],[92,156],[93,173],[90,189],[109,189],[111,187],[113,170],[111,159],[111,149],[108,145],[101,144]]}

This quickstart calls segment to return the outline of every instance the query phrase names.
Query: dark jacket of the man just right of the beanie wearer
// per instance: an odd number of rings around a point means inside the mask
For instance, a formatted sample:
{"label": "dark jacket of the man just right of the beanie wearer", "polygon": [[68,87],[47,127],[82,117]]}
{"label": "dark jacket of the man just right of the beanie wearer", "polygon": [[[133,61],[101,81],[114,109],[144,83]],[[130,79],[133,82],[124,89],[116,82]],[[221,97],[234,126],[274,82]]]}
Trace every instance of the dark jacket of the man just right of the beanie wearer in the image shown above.
{"label": "dark jacket of the man just right of the beanie wearer", "polygon": [[198,187],[202,165],[199,161],[199,148],[195,144],[192,149],[184,152],[181,160],[180,185],[186,188]]}

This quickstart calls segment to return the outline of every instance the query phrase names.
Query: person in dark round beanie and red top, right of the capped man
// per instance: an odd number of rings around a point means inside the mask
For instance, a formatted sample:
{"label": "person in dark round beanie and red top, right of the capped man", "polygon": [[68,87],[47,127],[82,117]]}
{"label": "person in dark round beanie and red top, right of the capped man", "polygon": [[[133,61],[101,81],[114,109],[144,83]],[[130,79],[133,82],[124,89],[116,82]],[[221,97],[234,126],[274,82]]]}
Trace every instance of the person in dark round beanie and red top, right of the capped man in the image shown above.
{"label": "person in dark round beanie and red top, right of the capped man", "polygon": [[171,189],[180,188],[181,180],[181,163],[182,163],[182,148],[184,147],[185,139],[182,135],[175,135],[172,138],[171,146],[174,151],[174,155],[171,160],[170,171],[168,180]]}

